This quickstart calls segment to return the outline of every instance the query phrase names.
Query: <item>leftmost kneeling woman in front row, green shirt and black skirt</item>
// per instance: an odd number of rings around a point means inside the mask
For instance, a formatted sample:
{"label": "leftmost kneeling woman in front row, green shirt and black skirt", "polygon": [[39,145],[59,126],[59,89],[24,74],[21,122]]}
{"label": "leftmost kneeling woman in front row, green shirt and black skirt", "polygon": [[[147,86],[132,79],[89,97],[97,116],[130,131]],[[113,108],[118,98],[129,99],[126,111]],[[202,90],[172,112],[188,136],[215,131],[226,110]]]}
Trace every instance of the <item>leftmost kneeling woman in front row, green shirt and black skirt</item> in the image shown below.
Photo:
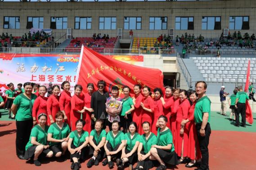
{"label": "leftmost kneeling woman in front row, green shirt and black skirt", "polygon": [[47,121],[47,115],[40,113],[38,115],[39,124],[34,126],[29,141],[26,145],[25,159],[32,158],[34,156],[34,164],[40,166],[41,163],[38,161],[39,155],[42,153],[45,157],[52,157],[53,152],[49,149],[47,144],[47,131],[48,127],[45,123]]}

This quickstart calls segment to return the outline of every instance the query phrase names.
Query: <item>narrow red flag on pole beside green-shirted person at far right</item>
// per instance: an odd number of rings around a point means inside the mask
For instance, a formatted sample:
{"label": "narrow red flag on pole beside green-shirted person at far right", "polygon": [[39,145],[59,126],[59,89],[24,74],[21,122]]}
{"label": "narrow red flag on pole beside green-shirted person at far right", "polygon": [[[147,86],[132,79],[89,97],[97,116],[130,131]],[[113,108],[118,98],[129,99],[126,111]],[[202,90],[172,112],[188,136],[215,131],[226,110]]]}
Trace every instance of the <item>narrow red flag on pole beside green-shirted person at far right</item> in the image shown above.
{"label": "narrow red flag on pole beside green-shirted person at far right", "polygon": [[[247,75],[246,75],[246,83],[245,83],[245,87],[244,87],[244,92],[247,92],[248,89],[249,89],[249,82],[250,82],[250,63],[251,63],[251,61],[249,60],[249,61],[248,61],[248,65],[247,65]],[[252,109],[251,109],[251,106],[250,106],[248,100],[246,100],[245,107],[246,107],[246,110],[245,110],[245,113],[246,113],[246,121],[247,121],[248,123],[252,124],[252,123],[253,123]]]}

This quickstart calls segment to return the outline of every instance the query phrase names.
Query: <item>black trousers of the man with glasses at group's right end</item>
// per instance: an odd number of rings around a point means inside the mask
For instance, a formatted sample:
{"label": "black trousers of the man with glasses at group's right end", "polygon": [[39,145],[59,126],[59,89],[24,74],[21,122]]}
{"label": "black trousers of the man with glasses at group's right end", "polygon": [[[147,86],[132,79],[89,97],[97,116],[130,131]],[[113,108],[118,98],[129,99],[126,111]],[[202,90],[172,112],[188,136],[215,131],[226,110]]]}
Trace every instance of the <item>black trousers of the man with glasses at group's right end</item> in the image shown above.
{"label": "black trousers of the man with glasses at group's right end", "polygon": [[205,136],[200,135],[200,129],[201,129],[202,124],[198,123],[196,124],[196,129],[197,129],[197,134],[198,134],[198,142],[199,142],[199,147],[200,151],[202,153],[202,161],[201,161],[201,170],[207,170],[209,169],[209,150],[208,150],[208,145],[209,145],[209,140],[210,140],[210,135],[211,135],[211,126],[209,123],[205,126]]}

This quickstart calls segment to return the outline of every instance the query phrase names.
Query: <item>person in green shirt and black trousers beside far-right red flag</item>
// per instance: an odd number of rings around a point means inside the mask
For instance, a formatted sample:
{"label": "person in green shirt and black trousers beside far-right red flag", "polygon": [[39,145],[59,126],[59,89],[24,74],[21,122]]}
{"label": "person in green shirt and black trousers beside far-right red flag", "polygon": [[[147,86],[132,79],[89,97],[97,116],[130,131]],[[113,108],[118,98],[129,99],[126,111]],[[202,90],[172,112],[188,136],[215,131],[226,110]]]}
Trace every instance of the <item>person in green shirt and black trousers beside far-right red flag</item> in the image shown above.
{"label": "person in green shirt and black trousers beside far-right red flag", "polygon": [[242,86],[238,86],[238,93],[237,93],[237,99],[236,99],[236,105],[235,107],[237,108],[237,112],[235,112],[236,115],[236,124],[235,126],[239,127],[239,113],[241,113],[241,117],[242,117],[242,127],[246,127],[245,126],[245,103],[246,100],[249,100],[249,97],[247,95],[246,92],[243,92],[243,87]]}

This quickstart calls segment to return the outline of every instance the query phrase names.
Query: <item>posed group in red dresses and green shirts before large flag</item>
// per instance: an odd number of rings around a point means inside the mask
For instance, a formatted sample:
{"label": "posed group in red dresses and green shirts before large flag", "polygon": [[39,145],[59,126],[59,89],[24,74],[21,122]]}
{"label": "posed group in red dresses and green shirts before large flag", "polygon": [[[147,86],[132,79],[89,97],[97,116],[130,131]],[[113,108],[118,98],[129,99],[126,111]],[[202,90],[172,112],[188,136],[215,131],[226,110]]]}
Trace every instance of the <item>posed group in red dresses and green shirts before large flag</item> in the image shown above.
{"label": "posed group in red dresses and green shirts before large flag", "polygon": [[[32,93],[32,83],[23,87],[11,106],[20,159],[32,159],[40,166],[40,155],[61,157],[68,150],[71,169],[75,170],[87,153],[88,168],[102,161],[103,166],[112,169],[116,161],[118,170],[126,166],[132,170],[135,162],[135,170],[153,166],[166,170],[166,165],[186,163],[186,167],[195,167],[201,161],[198,170],[209,169],[211,101],[203,81],[196,83],[196,91],[166,87],[163,95],[162,89],[155,88],[153,97],[148,86],[139,84],[134,86],[133,97],[128,86],[122,88],[123,98],[117,86],[112,87],[109,96],[103,80],[99,80],[95,92],[93,83],[87,84],[87,93],[76,85],[74,96],[67,81],[61,84],[60,95],[60,87],[52,86],[49,97],[45,97],[45,86],[38,88],[38,96]],[[109,111],[109,100],[122,101],[120,113]]]}

